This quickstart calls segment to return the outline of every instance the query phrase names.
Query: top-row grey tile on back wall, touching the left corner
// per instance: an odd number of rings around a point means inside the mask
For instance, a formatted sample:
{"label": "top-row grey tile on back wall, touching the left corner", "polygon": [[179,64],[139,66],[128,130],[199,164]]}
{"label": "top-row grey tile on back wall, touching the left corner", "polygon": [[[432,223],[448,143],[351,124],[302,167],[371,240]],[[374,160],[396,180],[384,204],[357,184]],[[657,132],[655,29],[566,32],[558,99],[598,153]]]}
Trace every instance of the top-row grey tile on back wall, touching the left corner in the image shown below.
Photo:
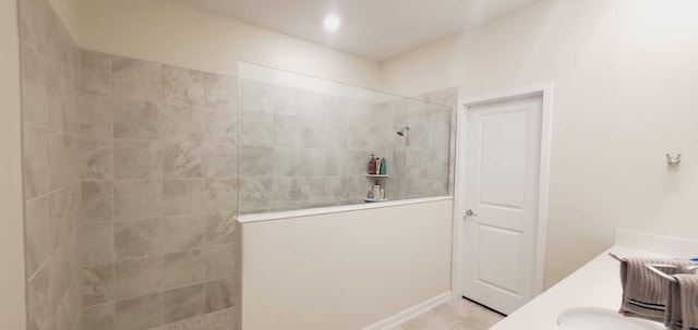
{"label": "top-row grey tile on back wall, touching the left corner", "polygon": [[91,94],[111,94],[111,57],[80,50],[80,88]]}

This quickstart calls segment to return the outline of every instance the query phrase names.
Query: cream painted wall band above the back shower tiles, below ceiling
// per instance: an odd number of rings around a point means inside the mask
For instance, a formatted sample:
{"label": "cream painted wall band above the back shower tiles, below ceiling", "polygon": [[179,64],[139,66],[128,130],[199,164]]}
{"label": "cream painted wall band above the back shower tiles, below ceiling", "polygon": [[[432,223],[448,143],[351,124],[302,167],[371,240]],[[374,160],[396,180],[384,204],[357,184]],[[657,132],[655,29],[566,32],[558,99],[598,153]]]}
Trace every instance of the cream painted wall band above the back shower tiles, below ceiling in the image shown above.
{"label": "cream painted wall band above the back shower tiles, below ceiling", "polygon": [[233,76],[240,60],[380,86],[376,61],[168,0],[77,1],[82,48]]}

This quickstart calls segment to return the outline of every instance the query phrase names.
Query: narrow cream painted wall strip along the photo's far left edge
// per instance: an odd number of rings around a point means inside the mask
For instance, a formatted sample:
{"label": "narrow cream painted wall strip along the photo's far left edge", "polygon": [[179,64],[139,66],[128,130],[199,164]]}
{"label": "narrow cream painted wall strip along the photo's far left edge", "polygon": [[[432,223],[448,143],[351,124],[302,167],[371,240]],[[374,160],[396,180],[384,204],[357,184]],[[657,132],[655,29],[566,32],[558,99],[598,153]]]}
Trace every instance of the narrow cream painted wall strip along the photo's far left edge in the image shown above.
{"label": "narrow cream painted wall strip along the photo's far left edge", "polygon": [[25,329],[20,37],[14,0],[0,1],[0,323]]}

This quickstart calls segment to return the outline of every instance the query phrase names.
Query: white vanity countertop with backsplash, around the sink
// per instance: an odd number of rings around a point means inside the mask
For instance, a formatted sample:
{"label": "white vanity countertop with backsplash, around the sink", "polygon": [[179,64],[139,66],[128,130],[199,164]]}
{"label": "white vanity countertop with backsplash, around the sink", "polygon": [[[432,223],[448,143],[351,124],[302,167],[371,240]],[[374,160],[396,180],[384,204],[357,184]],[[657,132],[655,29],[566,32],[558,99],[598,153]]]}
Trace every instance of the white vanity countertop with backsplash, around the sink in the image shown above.
{"label": "white vanity countertop with backsplash, around the sink", "polygon": [[666,257],[655,253],[615,245],[573,274],[517,309],[490,330],[556,330],[557,317],[575,307],[617,310],[621,307],[619,264],[609,257]]}

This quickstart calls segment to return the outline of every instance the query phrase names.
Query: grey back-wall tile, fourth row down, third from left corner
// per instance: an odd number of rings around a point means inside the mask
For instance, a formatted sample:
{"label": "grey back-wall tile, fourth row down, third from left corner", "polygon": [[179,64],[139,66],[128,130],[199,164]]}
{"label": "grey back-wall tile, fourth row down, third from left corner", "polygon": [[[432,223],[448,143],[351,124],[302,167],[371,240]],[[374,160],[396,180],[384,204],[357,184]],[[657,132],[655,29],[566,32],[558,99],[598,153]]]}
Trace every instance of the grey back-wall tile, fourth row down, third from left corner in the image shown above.
{"label": "grey back-wall tile, fourth row down, third from left corner", "polygon": [[163,213],[166,216],[201,213],[205,208],[205,180],[165,180]]}

